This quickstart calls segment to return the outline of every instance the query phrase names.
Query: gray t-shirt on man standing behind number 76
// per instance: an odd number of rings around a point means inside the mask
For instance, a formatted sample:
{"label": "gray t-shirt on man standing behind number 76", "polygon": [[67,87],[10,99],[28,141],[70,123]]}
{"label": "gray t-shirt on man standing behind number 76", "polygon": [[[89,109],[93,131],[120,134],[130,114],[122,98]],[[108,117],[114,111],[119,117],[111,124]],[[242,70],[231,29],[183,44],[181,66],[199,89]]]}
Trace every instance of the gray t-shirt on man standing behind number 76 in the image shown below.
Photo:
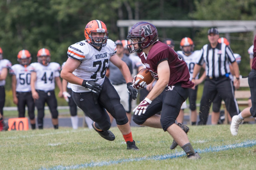
{"label": "gray t-shirt on man standing behind number 76", "polygon": [[[132,74],[132,60],[126,55],[123,56],[122,60],[127,64]],[[112,62],[109,62],[109,80],[114,85],[126,83],[122,72]]]}

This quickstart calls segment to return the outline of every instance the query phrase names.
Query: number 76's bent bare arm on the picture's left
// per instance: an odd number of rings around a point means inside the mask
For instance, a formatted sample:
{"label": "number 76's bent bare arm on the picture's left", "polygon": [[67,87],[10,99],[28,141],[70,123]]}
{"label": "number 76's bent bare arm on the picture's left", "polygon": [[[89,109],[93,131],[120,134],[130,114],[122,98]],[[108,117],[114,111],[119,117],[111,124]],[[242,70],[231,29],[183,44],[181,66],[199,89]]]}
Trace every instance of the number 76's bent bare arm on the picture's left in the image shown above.
{"label": "number 76's bent bare arm on the picture's left", "polygon": [[69,83],[82,85],[83,79],[75,76],[73,71],[81,64],[80,61],[68,58],[65,66],[60,72],[60,77],[67,80]]}

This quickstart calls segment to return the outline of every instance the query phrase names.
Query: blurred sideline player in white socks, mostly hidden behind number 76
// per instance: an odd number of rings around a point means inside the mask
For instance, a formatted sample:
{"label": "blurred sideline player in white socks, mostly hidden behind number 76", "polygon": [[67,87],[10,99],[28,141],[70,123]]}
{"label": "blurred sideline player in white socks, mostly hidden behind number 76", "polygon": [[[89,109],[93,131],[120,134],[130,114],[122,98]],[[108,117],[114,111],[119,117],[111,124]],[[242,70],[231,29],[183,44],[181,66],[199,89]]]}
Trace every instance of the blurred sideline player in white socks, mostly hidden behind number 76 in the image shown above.
{"label": "blurred sideline player in white socks, mostly hidden behind number 76", "polygon": [[[64,67],[66,62],[64,62],[61,66],[61,68]],[[70,119],[71,119],[71,124],[73,129],[77,129],[78,128],[78,115],[77,115],[77,105],[74,102],[73,98],[72,98],[72,89],[71,89],[71,83],[67,82],[67,80],[62,79],[62,89],[63,89],[63,97],[64,99],[68,102],[68,106],[69,106],[69,112],[70,112]],[[86,125],[89,129],[92,128],[92,120],[85,114],[84,115],[84,119],[86,122]]]}

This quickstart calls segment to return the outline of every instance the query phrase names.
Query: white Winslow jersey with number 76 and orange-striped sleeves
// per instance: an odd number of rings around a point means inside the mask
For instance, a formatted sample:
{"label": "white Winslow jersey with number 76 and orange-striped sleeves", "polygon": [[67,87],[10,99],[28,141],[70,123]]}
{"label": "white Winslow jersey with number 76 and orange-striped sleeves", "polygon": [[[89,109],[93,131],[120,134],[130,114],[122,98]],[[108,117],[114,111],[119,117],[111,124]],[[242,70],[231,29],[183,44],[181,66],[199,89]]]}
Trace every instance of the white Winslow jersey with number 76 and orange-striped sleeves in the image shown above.
{"label": "white Winslow jersey with number 76 and orange-striped sleeves", "polygon": [[[101,85],[105,79],[109,59],[115,53],[116,45],[110,39],[108,39],[106,46],[99,49],[88,44],[86,41],[78,42],[68,48],[68,57],[81,62],[76,70],[73,71],[73,74],[83,80],[99,79],[97,83]],[[77,84],[72,84],[71,89],[77,93],[89,91],[87,88]]]}

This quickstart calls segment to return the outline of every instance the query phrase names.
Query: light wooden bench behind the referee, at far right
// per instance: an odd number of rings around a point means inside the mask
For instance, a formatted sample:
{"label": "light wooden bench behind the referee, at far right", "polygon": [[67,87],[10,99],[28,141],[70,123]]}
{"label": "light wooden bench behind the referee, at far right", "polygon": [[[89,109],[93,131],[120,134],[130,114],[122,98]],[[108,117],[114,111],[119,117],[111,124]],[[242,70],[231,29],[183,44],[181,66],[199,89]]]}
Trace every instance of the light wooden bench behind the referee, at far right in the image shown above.
{"label": "light wooden bench behind the referee, at far right", "polygon": [[[241,87],[248,87],[248,90],[240,90]],[[248,107],[248,99],[251,97],[251,92],[250,92],[250,88],[249,88],[249,84],[248,84],[248,78],[242,78],[240,76],[240,88],[235,90],[235,97],[237,99],[237,104],[238,104],[238,107]],[[224,124],[228,124],[230,123],[229,122],[229,119],[231,118],[228,111],[227,111],[227,108],[226,108],[226,105],[225,105],[225,102],[222,101],[222,106],[223,108],[225,108],[225,120],[224,120]],[[240,109],[240,111],[242,111]],[[228,117],[230,117],[228,119]],[[254,117],[248,117],[246,119],[244,119],[244,122],[254,122],[255,119]]]}

